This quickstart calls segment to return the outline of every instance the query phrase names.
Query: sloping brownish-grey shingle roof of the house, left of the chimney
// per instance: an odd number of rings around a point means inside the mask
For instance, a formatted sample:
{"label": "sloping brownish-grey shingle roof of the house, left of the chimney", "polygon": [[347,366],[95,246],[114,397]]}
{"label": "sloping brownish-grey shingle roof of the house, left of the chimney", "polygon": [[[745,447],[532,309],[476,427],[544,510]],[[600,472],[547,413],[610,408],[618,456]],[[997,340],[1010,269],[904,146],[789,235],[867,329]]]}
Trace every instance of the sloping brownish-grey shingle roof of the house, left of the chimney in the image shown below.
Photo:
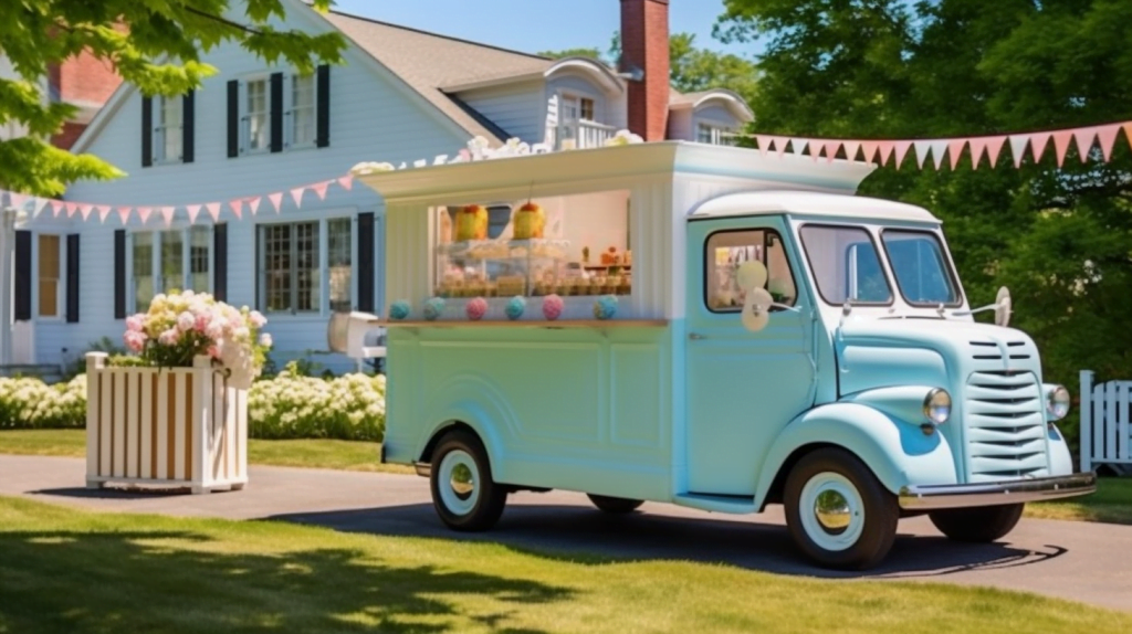
{"label": "sloping brownish-grey shingle roof of the house, left of the chimney", "polygon": [[494,76],[540,72],[555,62],[548,58],[508,51],[488,44],[427,33],[338,11],[323,14],[332,25],[365,52],[401,77],[444,114],[472,136],[506,140],[506,131],[486,124],[444,86]]}

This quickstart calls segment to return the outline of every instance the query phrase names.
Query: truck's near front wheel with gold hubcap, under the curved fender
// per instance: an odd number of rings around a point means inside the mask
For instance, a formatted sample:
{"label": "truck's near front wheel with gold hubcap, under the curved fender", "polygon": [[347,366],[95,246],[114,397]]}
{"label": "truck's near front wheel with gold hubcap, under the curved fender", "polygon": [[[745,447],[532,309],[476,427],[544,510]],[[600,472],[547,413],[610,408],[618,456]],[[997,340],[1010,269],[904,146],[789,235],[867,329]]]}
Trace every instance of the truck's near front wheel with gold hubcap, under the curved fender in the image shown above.
{"label": "truck's near front wheel with gold hubcap, under the curved fender", "polygon": [[897,537],[900,510],[861,461],[841,449],[820,449],[790,471],[786,521],[795,544],[820,565],[875,566]]}

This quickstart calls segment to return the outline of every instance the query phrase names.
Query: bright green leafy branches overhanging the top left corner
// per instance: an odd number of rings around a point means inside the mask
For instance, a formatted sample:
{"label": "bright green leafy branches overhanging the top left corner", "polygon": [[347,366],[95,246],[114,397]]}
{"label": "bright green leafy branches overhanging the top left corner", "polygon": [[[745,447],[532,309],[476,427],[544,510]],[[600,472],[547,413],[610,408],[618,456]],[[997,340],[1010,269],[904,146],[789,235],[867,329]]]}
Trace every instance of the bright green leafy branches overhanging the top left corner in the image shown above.
{"label": "bright green leafy branches overhanging the top left corner", "polygon": [[[280,31],[282,0],[248,0],[245,16],[225,18],[229,0],[40,0],[0,2],[0,54],[17,78],[0,79],[0,123],[28,131],[0,141],[0,186],[38,196],[59,196],[67,184],[122,174],[91,155],[72,155],[46,139],[58,132],[75,107],[49,103],[40,81],[54,66],[88,51],[110,61],[119,76],[146,95],[179,95],[200,86],[216,69],[200,54],[234,42],[268,62],[284,61],[301,72],[316,60],[341,62],[345,47],[337,33],[310,35]],[[314,0],[325,11],[329,0]]]}

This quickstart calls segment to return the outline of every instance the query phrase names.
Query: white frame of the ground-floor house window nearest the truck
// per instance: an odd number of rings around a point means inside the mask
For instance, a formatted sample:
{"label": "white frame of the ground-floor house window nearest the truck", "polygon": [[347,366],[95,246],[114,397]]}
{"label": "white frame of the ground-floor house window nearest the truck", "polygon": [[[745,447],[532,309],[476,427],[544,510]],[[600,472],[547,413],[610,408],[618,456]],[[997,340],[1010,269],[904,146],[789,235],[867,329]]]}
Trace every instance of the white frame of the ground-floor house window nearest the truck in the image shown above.
{"label": "white frame of the ground-floor house window nearest the truck", "polygon": [[[280,220],[265,220],[255,224],[255,305],[256,309],[261,311],[264,314],[268,315],[268,319],[278,321],[323,321],[331,314],[331,267],[329,267],[329,247],[331,247],[331,234],[329,234],[329,222],[331,220],[350,220],[350,266],[352,272],[350,275],[350,305],[351,307],[358,306],[358,211],[357,209],[329,209],[329,210],[314,210],[314,211],[302,211],[298,214],[289,214],[286,219]],[[317,311],[297,311],[293,306],[288,311],[267,311],[267,295],[266,288],[263,284],[261,271],[264,270],[264,249],[260,244],[260,235],[264,227],[277,226],[277,225],[297,225],[305,223],[318,223],[318,284],[319,284],[319,298],[318,298],[318,310]],[[297,289],[292,289],[292,293],[297,293]]]}

